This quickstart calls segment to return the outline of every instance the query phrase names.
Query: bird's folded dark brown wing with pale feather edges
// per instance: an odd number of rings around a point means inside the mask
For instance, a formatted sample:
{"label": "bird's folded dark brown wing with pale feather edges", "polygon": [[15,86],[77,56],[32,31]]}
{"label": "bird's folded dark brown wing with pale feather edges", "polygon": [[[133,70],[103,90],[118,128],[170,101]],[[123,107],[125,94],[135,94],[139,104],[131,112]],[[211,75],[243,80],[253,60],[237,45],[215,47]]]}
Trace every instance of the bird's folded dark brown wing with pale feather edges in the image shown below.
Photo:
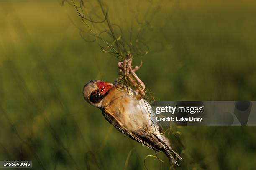
{"label": "bird's folded dark brown wing with pale feather edges", "polygon": [[113,114],[108,112],[107,109],[102,110],[102,113],[105,119],[109,123],[111,123],[116,129],[118,129],[120,132],[124,133],[131,139],[136,140],[137,142],[142,143],[143,145],[153,150],[156,150],[156,151],[161,150],[161,143],[159,143],[158,140],[154,138],[154,135],[146,133],[146,131],[143,130],[143,128],[141,128],[141,130],[137,130],[136,132],[131,132],[128,129],[126,129],[124,126],[122,126],[122,123],[118,121],[113,116]]}

